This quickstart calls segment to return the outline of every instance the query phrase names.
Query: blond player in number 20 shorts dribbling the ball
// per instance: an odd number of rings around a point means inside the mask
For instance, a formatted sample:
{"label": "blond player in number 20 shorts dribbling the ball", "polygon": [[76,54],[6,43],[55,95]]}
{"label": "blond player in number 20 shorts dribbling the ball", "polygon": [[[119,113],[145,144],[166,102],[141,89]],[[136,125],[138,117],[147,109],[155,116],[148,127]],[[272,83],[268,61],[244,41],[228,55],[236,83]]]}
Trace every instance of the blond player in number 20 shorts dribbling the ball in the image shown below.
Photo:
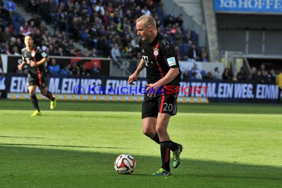
{"label": "blond player in number 20 shorts dribbling the ball", "polygon": [[[176,115],[177,93],[168,94],[168,85],[178,87],[181,80],[178,57],[171,41],[156,30],[156,22],[149,15],[143,15],[136,22],[142,58],[136,71],[129,77],[133,84],[143,68],[146,68],[147,89],[142,103],[143,133],[160,144],[162,167],[153,176],[169,176],[170,150],[172,165],[180,164],[182,145],[170,140],[167,132],[170,116]],[[159,89],[159,90],[158,90]],[[161,91],[160,91],[161,90]]]}

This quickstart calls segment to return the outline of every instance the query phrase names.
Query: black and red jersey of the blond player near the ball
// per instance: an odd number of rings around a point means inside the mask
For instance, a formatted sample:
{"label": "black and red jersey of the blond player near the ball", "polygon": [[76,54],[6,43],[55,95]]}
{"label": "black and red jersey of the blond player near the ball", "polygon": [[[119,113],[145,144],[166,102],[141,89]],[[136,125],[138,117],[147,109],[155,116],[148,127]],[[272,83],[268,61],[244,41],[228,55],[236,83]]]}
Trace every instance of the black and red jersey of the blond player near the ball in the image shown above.
{"label": "black and red jersey of the blond player near the ball", "polygon": [[[178,56],[172,42],[162,34],[158,33],[155,40],[149,44],[146,41],[139,40],[139,46],[142,58],[146,67],[146,78],[148,84],[156,83],[163,78],[170,68],[179,69]],[[180,72],[180,69],[179,69]],[[167,85],[179,85],[180,74]]]}

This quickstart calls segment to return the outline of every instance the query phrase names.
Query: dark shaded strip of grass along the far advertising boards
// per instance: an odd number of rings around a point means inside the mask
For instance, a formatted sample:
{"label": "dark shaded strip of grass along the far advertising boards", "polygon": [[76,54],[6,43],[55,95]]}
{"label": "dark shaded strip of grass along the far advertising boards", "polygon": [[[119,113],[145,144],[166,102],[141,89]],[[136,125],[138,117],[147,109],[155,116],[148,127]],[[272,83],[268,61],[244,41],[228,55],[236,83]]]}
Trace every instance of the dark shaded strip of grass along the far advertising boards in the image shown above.
{"label": "dark shaded strip of grass along the far advertising boards", "polygon": [[[1,110],[31,110],[29,100],[0,99]],[[49,110],[49,100],[40,100],[41,110]],[[178,112],[282,114],[282,105],[255,103],[179,103]],[[57,110],[141,112],[141,102],[57,101]]]}

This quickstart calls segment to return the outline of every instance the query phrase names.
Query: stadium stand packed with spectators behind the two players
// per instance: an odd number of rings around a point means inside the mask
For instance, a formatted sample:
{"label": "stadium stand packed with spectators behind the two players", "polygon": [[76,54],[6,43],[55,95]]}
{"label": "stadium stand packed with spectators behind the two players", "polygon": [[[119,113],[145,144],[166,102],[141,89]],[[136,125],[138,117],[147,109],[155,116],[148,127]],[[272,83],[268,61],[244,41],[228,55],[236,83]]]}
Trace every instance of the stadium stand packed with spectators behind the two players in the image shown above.
{"label": "stadium stand packed with spectators behind the two players", "polygon": [[[157,20],[158,32],[175,43],[180,60],[194,61],[194,58],[189,58],[189,51],[194,44],[196,45],[194,50],[199,54],[196,60],[209,61],[209,47],[199,45],[202,45],[202,40],[196,31],[187,27],[183,19],[184,14],[166,12],[163,2],[167,1],[2,0],[1,52],[17,54],[23,47],[23,36],[31,33],[35,35],[36,43],[49,55],[112,58],[111,49],[118,44],[120,58],[137,59],[140,58],[140,54],[135,19],[142,14],[151,14]],[[178,0],[175,2],[193,5],[195,9],[201,7],[195,0],[186,3]],[[16,7],[24,9],[25,12],[16,11]],[[209,9],[207,7],[206,9]],[[206,9],[204,7],[201,10],[204,15],[208,15]],[[189,9],[187,11],[190,11],[191,17],[199,25],[204,22],[205,17],[193,15],[197,11]],[[213,30],[212,27],[210,30]],[[220,39],[224,37],[223,33],[224,31],[220,32]],[[63,65],[60,66],[63,68]],[[252,67],[259,69],[258,65]],[[188,71],[190,77],[193,74],[191,71]],[[201,71],[203,78],[206,76],[204,73],[205,70]],[[236,73],[233,73],[232,79],[237,78]]]}

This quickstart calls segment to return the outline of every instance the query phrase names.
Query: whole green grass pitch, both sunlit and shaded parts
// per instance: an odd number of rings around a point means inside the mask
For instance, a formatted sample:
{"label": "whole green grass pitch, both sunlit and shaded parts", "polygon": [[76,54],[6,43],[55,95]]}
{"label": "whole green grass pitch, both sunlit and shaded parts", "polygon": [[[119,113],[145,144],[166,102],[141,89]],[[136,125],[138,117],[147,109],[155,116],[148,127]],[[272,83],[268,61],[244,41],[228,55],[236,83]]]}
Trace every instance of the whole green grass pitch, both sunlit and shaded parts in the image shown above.
{"label": "whole green grass pitch, both sunlit and shaded parts", "polygon": [[[28,100],[0,100],[0,188],[282,187],[282,106],[179,104],[169,134],[184,146],[170,177],[151,177],[159,145],[142,134],[141,103],[58,101],[31,117]],[[136,159],[132,175],[114,159]]]}

